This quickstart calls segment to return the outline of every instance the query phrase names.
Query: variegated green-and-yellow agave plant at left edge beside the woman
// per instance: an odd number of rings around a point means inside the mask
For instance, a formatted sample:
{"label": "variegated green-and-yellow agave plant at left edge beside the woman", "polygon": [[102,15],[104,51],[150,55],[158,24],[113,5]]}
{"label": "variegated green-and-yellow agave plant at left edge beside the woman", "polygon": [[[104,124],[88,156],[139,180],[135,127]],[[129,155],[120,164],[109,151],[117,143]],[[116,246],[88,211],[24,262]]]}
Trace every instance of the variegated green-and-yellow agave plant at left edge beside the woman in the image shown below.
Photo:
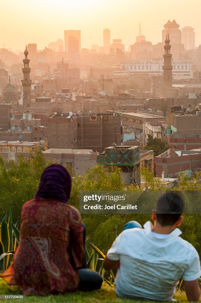
{"label": "variegated green-and-yellow agave plant at left edge beside the woman", "polygon": [[[8,221],[7,221],[8,217]],[[0,272],[5,271],[11,264],[12,255],[17,249],[19,243],[20,220],[12,223],[12,212],[0,221]]]}

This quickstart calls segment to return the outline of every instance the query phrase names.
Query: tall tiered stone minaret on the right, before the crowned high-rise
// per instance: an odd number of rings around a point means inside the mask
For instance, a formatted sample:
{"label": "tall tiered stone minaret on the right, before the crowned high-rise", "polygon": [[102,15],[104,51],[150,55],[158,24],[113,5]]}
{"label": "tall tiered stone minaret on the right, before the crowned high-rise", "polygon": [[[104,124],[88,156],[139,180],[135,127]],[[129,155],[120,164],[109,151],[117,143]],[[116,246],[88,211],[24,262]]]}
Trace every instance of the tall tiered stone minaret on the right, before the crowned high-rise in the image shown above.
{"label": "tall tiered stone minaret on the right, before the crowned high-rise", "polygon": [[172,88],[172,54],[170,54],[170,39],[169,35],[165,39],[165,54],[163,55],[164,58],[164,65],[163,65],[163,82],[165,88]]}

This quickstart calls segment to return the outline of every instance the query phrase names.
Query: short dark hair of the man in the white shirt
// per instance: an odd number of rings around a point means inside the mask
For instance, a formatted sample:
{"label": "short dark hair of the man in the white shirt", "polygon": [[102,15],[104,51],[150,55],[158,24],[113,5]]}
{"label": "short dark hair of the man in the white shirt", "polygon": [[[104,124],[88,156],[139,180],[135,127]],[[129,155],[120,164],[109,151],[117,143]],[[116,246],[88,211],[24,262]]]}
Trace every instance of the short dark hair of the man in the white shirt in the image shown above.
{"label": "short dark hair of the man in the white shirt", "polygon": [[184,203],[175,191],[166,191],[157,201],[155,213],[157,222],[162,226],[169,226],[179,220]]}

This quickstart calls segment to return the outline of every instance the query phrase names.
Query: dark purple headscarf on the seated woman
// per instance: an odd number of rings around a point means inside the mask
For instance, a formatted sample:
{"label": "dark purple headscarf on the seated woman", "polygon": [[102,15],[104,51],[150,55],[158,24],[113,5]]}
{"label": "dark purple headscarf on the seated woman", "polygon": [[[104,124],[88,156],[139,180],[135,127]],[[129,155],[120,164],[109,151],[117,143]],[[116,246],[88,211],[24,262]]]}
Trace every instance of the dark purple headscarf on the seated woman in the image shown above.
{"label": "dark purple headscarf on the seated woman", "polygon": [[56,199],[68,203],[71,193],[71,176],[60,164],[44,169],[35,198]]}

